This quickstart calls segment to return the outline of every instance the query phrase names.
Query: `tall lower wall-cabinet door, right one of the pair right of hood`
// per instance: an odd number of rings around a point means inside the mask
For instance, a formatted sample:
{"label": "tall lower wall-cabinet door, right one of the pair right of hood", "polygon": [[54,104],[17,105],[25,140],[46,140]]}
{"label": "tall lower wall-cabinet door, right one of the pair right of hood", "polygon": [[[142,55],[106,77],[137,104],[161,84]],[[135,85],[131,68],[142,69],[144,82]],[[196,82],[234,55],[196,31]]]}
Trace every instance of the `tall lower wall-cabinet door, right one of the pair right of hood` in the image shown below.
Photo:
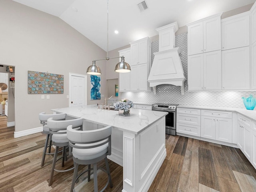
{"label": "tall lower wall-cabinet door, right one of the pair right of hood", "polygon": [[221,90],[221,51],[204,53],[204,90]]}

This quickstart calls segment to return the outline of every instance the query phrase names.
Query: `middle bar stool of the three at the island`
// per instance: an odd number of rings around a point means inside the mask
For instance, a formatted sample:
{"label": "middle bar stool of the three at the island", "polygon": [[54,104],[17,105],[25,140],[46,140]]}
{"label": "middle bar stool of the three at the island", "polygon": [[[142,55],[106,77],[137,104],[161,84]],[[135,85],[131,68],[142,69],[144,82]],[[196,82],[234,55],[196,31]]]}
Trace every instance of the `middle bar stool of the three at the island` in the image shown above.
{"label": "middle bar stool of the three at the island", "polygon": [[[74,167],[67,169],[67,170],[57,170],[55,169],[56,162],[60,159],[62,159],[62,167],[64,166],[64,160],[67,160],[66,156],[66,147],[68,147],[68,138],[67,138],[67,133],[66,129],[69,125],[72,125],[73,128],[76,129],[81,129],[83,126],[83,119],[78,118],[78,119],[72,119],[72,120],[53,120],[53,118],[49,118],[47,120],[47,126],[49,128],[49,132],[52,134],[52,144],[56,146],[55,153],[54,153],[54,158],[52,161],[52,170],[50,173],[50,181],[49,181],[49,186],[52,185],[53,181],[53,176],[54,176],[54,171],[56,172],[67,172]],[[58,156],[58,150],[59,148],[62,147],[62,156],[57,160]]]}

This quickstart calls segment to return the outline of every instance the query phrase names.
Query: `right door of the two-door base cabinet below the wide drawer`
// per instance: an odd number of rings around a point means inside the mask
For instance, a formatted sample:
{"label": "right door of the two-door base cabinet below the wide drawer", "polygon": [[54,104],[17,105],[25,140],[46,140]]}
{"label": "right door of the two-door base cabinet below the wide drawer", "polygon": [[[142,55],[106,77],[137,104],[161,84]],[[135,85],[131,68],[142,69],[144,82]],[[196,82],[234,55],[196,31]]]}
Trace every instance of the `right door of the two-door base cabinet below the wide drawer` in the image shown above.
{"label": "right door of the two-door base cabinet below the wide drawer", "polygon": [[216,118],[216,140],[232,143],[232,119]]}

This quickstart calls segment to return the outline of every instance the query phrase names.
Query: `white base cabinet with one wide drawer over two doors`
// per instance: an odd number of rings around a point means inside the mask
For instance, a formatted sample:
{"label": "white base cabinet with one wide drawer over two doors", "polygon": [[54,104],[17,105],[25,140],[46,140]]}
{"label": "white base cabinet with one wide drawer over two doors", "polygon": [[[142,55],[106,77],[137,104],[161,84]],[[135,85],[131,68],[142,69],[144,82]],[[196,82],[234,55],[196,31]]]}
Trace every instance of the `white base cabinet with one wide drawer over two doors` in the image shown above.
{"label": "white base cabinet with one wide drawer over two doors", "polygon": [[232,143],[232,112],[201,110],[201,137]]}

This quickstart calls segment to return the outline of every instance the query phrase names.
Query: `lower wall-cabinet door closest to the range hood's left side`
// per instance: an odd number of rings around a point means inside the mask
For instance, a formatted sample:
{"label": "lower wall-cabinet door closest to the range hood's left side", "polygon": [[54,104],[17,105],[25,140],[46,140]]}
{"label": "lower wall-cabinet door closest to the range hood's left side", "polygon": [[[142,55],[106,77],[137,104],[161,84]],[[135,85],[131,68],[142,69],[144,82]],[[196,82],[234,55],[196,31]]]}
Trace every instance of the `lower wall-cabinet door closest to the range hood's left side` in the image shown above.
{"label": "lower wall-cabinet door closest to the range hood's left side", "polygon": [[137,66],[137,84],[139,91],[146,91],[148,88],[148,73],[147,64],[140,64]]}

